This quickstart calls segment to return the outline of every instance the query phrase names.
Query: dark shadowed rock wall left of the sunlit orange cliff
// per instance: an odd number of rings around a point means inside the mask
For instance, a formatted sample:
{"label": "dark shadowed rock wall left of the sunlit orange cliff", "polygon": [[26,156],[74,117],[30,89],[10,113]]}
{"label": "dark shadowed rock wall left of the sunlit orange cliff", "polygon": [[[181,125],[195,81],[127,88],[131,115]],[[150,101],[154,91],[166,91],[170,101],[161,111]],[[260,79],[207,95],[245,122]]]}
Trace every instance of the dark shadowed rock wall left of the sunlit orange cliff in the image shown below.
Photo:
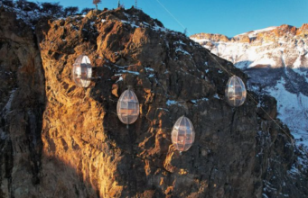
{"label": "dark shadowed rock wall left of the sunlit orange cliff", "polygon": [[0,197],[29,197],[41,182],[42,61],[30,27],[3,7],[0,19]]}

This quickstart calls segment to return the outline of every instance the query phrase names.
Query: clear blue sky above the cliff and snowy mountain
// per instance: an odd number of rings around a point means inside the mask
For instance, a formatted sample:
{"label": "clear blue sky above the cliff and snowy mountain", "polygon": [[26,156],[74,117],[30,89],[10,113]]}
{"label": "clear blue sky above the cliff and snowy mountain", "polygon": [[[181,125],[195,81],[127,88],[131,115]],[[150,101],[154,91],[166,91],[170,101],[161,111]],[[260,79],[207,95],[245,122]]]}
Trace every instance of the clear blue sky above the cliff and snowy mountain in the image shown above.
{"label": "clear blue sky above the cliff and snowy mountain", "polygon": [[[33,2],[59,2],[34,0]],[[98,9],[117,8],[117,0],[101,0]],[[62,0],[64,7],[95,8],[92,0]],[[125,8],[135,0],[120,0]],[[233,37],[243,32],[289,24],[308,23],[308,0],[138,0],[137,7],[158,19],[164,27],[192,35],[200,32]]]}

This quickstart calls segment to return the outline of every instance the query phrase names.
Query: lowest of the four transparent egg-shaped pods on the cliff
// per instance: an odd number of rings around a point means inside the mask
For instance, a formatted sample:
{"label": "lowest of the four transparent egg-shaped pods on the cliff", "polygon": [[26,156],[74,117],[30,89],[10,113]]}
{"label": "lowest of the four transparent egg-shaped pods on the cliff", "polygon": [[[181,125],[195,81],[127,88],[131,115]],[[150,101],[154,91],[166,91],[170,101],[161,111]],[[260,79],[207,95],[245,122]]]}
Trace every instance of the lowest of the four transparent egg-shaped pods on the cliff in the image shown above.
{"label": "lowest of the four transparent egg-shaped pods on the cliff", "polygon": [[171,139],[173,146],[180,151],[186,151],[191,148],[194,142],[195,132],[190,119],[185,116],[180,117],[173,125]]}

